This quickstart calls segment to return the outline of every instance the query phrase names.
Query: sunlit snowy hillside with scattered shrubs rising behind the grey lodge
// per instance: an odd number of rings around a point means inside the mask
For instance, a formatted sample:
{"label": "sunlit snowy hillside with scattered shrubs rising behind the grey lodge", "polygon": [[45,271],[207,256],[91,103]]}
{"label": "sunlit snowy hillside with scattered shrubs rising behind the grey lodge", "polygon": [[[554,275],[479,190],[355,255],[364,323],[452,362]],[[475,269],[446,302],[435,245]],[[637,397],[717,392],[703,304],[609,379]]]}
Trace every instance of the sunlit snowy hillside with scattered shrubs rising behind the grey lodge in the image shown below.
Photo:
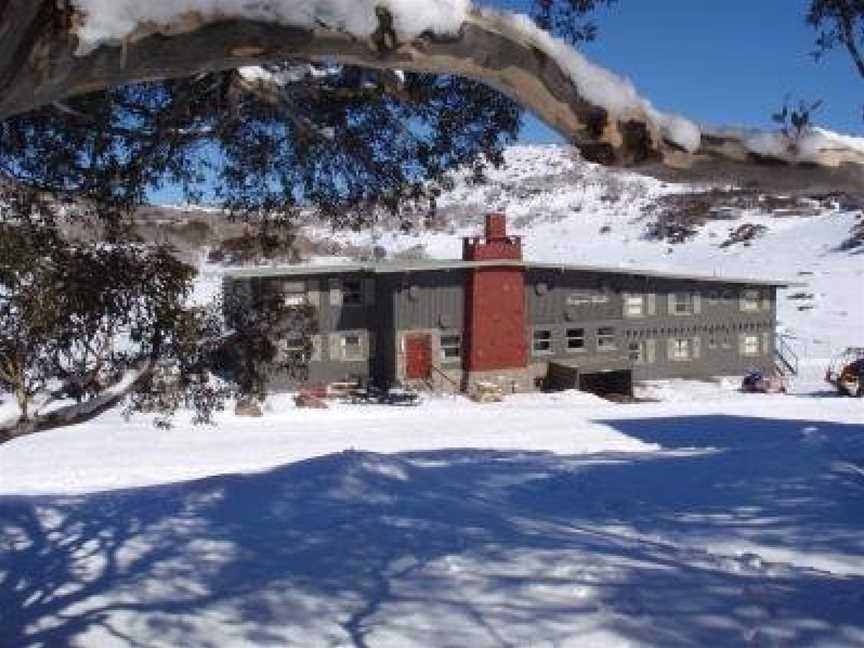
{"label": "sunlit snowy hillside with scattered shrubs rising behind the grey lodge", "polygon": [[[502,169],[489,171],[485,184],[472,184],[468,173],[455,178],[438,199],[437,231],[403,234],[384,224],[337,238],[392,253],[419,245],[428,256],[458,258],[460,237],[476,234],[487,211],[502,211],[511,231],[525,236],[531,261],[798,282],[805,285],[781,293],[779,319],[805,357],[821,360],[846,346],[864,345],[864,253],[840,249],[860,222],[860,211],[832,206],[830,200],[770,209],[778,202],[774,197],[761,208],[729,207],[721,192],[711,200],[724,218],[697,228],[686,243],[671,245],[646,238],[658,218],[658,200],[710,187],[610,170],[582,162],[561,146],[513,147],[506,160]],[[767,230],[747,245],[724,247],[730,230],[743,223]]]}

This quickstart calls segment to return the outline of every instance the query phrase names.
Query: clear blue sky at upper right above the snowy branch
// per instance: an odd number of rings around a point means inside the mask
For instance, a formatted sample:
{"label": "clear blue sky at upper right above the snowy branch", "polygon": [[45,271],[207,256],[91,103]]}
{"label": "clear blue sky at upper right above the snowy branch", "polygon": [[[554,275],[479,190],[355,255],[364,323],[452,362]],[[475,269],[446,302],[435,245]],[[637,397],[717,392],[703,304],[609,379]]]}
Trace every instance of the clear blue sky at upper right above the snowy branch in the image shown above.
{"label": "clear blue sky at upper right above the snowy branch", "polygon": [[[481,0],[482,1],[482,0]],[[527,11],[527,0],[489,4]],[[597,15],[594,62],[634,81],[658,108],[701,123],[771,127],[770,116],[793,99],[822,99],[816,122],[864,135],[864,80],[845,51],[819,63],[806,0],[619,0]],[[527,118],[522,140],[559,141]]]}

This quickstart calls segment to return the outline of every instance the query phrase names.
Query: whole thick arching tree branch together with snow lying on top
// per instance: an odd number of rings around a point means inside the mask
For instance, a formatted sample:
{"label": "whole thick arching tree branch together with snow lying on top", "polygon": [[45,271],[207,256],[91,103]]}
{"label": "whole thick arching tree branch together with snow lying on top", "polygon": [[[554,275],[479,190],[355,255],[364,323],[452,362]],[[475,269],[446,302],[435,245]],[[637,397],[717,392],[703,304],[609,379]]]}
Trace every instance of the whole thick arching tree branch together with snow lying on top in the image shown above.
{"label": "whole thick arching tree branch together with snow lying on top", "polygon": [[527,17],[469,0],[69,0],[60,28],[11,1],[39,28],[31,41],[27,25],[0,41],[0,118],[130,81],[295,59],[482,82],[604,164],[659,162],[682,177],[748,182],[768,158],[796,166],[803,185],[864,186],[860,138],[813,131],[789,142],[776,133],[701,128],[657,110],[630,81]]}

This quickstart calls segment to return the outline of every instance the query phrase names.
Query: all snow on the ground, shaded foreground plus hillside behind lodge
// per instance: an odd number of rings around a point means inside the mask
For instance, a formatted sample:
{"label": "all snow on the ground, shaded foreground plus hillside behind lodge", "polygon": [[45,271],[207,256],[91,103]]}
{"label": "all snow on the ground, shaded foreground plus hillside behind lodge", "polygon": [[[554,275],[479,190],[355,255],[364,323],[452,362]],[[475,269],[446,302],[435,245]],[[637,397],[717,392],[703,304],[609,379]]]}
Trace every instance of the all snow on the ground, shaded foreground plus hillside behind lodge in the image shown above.
{"label": "all snow on the ground, shaded foreground plus hillside behind lodge", "polygon": [[[821,382],[864,335],[862,256],[836,250],[855,215],[745,214],[769,227],[750,247],[721,249],[725,222],[668,253],[642,209],[681,187],[617,174],[604,200],[607,172],[563,149],[509,157],[445,197],[456,233],[498,207],[538,261],[806,281],[780,304],[791,393],[282,396],[217,427],[109,412],[20,439],[0,446],[0,647],[864,646],[864,402]],[[596,182],[526,191],[550,163]],[[459,254],[453,233],[349,238]]]}

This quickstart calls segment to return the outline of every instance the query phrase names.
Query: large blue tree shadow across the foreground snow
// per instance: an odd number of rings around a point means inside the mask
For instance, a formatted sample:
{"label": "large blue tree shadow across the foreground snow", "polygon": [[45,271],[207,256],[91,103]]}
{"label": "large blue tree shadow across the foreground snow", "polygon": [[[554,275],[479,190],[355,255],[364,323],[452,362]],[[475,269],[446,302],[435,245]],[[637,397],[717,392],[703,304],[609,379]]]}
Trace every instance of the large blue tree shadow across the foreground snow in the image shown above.
{"label": "large blue tree shadow across the foreground snow", "polygon": [[0,498],[0,646],[864,642],[864,577],[739,549],[864,561],[861,426],[603,423],[664,451],[346,452]]}

